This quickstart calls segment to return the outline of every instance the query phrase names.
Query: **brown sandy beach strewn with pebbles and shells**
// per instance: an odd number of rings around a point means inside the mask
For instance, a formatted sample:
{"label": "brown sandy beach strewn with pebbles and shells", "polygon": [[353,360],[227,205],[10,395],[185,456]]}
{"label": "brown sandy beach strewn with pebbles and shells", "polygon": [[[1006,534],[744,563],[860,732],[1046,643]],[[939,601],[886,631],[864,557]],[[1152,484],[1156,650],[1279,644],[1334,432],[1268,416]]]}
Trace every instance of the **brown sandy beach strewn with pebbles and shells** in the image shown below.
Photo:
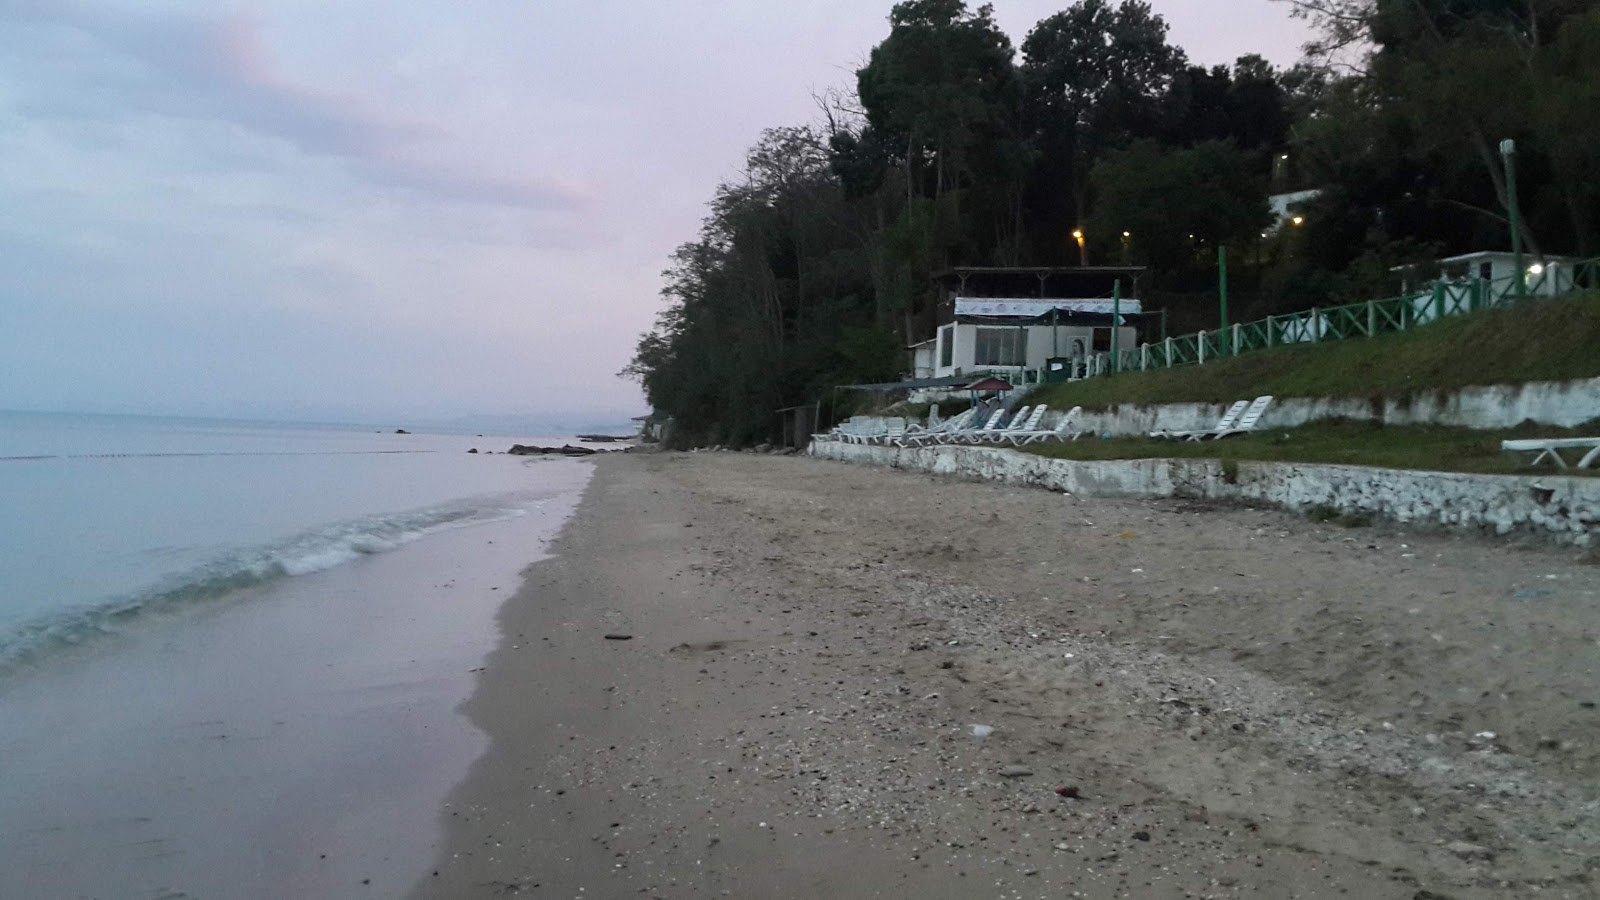
{"label": "brown sandy beach strewn with pebbles and shells", "polygon": [[1600,897],[1592,556],[597,469],[501,609],[416,897]]}

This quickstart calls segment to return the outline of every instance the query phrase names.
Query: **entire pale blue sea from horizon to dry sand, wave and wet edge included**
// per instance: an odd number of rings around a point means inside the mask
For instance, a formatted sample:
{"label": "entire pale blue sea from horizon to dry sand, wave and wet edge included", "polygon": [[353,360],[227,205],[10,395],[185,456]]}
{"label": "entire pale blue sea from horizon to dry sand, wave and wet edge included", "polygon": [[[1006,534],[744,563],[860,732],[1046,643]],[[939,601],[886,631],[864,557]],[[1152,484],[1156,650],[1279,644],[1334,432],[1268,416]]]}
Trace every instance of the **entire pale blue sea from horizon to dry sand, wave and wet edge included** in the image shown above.
{"label": "entire pale blue sea from horizon to dry sand, wave and wet edge included", "polygon": [[[571,436],[0,413],[0,897],[392,897]],[[470,453],[470,450],[478,450]]]}

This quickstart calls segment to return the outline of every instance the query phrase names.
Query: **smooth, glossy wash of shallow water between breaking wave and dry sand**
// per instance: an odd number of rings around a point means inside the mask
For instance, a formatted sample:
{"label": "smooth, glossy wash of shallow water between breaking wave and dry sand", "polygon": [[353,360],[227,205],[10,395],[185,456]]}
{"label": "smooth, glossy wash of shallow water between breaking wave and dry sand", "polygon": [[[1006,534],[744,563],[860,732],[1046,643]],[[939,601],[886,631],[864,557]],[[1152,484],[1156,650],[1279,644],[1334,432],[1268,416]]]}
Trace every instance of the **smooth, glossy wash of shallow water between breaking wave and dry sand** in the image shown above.
{"label": "smooth, glossy wash of shallow water between breaking wave and dry sand", "polygon": [[[530,546],[514,516],[139,617],[0,682],[0,895],[392,897],[486,746],[456,714]],[[558,476],[558,477],[555,477]]]}

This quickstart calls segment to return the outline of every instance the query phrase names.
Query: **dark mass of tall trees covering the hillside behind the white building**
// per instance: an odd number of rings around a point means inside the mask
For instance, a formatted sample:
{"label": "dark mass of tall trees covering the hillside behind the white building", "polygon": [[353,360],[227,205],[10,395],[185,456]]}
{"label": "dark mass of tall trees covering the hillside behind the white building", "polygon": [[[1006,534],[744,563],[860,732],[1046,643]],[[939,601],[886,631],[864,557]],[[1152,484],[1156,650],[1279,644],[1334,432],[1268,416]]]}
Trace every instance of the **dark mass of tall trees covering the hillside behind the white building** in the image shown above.
{"label": "dark mass of tall trees covering the hillside behind the white building", "polygon": [[1141,0],[1021,46],[987,5],[896,3],[854,91],[717,189],[624,373],[675,442],[747,445],[899,378],[952,266],[1146,266],[1173,333],[1214,327],[1219,247],[1235,320],[1389,296],[1394,266],[1509,245],[1504,138],[1531,251],[1600,253],[1600,0],[1277,2],[1318,35],[1288,69],[1195,66]]}

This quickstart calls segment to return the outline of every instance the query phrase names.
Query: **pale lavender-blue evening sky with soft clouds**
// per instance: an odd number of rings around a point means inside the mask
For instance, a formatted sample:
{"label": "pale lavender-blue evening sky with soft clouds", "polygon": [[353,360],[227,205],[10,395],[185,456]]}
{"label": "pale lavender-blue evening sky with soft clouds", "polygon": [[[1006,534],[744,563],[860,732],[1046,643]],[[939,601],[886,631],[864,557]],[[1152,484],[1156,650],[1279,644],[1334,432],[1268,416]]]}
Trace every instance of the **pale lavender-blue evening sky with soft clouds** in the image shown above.
{"label": "pale lavender-blue evening sky with soft clouds", "polygon": [[[997,0],[1013,43],[1067,0]],[[1202,64],[1285,3],[1152,0]],[[0,0],[0,408],[646,410],[661,269],[890,0]]]}

